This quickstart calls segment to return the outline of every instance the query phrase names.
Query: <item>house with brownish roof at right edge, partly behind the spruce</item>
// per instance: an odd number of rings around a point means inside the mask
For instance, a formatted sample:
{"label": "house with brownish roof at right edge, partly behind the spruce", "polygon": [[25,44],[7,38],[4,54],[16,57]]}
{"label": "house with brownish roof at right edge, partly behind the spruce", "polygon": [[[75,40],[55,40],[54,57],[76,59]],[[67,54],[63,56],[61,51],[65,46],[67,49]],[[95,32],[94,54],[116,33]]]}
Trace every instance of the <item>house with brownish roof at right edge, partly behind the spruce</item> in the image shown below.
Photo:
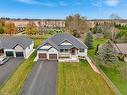
{"label": "house with brownish roof at right edge, partly behind the spruce", "polygon": [[116,53],[127,57],[127,43],[115,44]]}

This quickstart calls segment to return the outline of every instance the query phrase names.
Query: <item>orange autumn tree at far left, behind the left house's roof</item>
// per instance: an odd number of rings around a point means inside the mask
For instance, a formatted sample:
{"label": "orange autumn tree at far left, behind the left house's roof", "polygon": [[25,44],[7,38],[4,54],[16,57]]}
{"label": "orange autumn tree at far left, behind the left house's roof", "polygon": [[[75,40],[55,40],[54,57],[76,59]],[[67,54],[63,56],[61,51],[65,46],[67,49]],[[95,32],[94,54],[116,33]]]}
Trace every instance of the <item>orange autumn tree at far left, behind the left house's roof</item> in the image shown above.
{"label": "orange autumn tree at far left, behind the left house's roof", "polygon": [[13,22],[7,22],[4,26],[4,33],[6,34],[16,34],[17,29]]}

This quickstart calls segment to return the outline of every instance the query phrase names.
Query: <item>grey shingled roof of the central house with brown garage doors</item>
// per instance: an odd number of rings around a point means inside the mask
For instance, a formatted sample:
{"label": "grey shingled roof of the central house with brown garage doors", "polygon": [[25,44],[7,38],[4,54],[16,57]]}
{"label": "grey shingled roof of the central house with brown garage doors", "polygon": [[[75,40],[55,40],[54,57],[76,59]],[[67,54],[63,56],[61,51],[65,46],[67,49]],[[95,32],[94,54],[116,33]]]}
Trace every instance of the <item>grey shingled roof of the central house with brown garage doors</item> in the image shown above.
{"label": "grey shingled roof of the central house with brown garage doors", "polygon": [[[65,46],[61,46],[61,42],[64,41],[68,41],[70,42],[72,45],[65,45]],[[70,35],[70,34],[65,34],[65,33],[61,33],[61,34],[57,34],[49,39],[47,39],[45,42],[43,42],[38,49],[40,49],[40,47],[44,46],[45,44],[51,44],[53,47],[55,47],[57,50],[60,49],[70,49],[70,48],[78,48],[78,49],[87,49],[88,47],[79,39],[75,38],[74,36]]]}

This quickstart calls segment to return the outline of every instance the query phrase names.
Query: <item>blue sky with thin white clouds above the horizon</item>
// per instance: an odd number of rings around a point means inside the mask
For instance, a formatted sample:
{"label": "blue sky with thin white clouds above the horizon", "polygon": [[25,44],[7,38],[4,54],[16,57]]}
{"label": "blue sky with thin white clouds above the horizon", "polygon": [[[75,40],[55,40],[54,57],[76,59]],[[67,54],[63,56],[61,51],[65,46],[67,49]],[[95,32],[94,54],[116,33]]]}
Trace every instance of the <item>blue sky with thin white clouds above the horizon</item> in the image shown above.
{"label": "blue sky with thin white clouds above the horizon", "polygon": [[0,17],[65,19],[80,14],[88,19],[127,19],[127,0],[0,0]]}

